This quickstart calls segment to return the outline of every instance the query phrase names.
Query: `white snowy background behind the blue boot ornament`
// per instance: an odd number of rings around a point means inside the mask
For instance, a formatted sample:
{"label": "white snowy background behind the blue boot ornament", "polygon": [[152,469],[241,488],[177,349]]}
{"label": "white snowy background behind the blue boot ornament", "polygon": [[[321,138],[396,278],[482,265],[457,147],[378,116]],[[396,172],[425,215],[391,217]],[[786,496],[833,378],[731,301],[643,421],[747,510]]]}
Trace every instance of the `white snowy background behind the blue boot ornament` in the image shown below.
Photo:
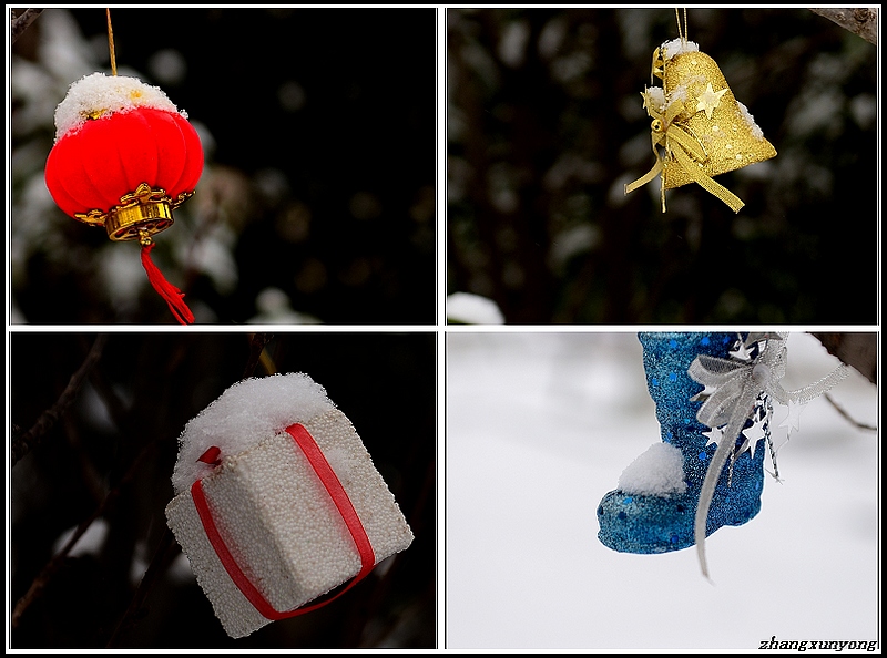
{"label": "white snowy background behind the blue boot ornament", "polygon": [[[660,436],[634,333],[450,331],[446,349],[447,648],[757,650],[772,636],[880,637],[878,433],[812,401],[778,453],[784,482],[766,476],[761,513],[708,537],[710,583],[692,548],[630,555],[597,537],[601,497]],[[783,383],[837,363],[792,333]],[[877,424],[877,389],[858,372],[832,397]],[[774,428],[786,415],[775,405]]]}

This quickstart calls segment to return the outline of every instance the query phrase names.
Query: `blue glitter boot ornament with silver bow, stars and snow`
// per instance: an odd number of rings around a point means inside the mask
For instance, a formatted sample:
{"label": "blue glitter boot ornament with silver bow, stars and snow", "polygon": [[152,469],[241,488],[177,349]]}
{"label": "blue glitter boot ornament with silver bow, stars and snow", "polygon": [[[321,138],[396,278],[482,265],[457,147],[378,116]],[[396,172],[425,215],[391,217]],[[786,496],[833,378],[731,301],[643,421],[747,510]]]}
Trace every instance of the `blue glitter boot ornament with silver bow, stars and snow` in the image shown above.
{"label": "blue glitter boot ornament with silver bow, stars and snow", "polygon": [[652,446],[598,506],[598,537],[621,553],[696,545],[708,576],[705,537],[761,510],[764,441],[773,401],[803,405],[844,379],[786,391],[785,333],[640,333],[663,444]]}

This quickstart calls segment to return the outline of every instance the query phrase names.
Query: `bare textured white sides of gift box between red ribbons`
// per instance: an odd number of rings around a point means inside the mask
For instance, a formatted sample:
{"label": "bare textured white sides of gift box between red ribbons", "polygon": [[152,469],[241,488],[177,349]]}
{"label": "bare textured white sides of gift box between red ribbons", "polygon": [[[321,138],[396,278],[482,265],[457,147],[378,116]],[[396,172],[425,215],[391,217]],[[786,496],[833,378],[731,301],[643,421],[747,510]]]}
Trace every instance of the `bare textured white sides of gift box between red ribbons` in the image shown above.
{"label": "bare textured white sides of gift box between red ribbons", "polygon": [[[412,533],[345,414],[334,409],[302,424],[348,494],[376,564],[407,548]],[[226,546],[276,610],[297,608],[360,570],[345,521],[288,433],[224,459],[203,490]],[[222,565],[190,491],[170,502],[166,517],[225,631],[237,638],[268,624]]]}

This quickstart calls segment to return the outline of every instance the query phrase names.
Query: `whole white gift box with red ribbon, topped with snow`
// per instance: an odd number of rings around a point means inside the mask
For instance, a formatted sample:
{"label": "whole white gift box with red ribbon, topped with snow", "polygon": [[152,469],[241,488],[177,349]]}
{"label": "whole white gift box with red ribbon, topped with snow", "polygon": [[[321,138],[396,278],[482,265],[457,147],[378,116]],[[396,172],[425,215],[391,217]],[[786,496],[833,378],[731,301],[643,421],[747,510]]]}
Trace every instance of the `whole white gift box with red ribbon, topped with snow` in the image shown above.
{"label": "whole white gift box with red ribbon, topped with snow", "polygon": [[412,542],[350,421],[306,374],[234,384],[179,441],[167,523],[233,638],[325,605],[305,606]]}

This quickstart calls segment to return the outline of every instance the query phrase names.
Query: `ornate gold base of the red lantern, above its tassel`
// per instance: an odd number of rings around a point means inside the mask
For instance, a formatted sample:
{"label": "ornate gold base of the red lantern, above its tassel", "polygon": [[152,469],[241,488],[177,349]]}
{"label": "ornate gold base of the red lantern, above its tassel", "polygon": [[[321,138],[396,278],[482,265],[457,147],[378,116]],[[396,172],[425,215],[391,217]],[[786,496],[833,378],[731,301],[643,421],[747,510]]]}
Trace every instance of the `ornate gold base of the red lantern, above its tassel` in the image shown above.
{"label": "ornate gold base of the red lantern, above its tassel", "polygon": [[173,209],[177,208],[193,192],[183,192],[173,201],[166,191],[152,189],[142,183],[135,192],[120,197],[120,204],[106,213],[95,209],[78,213],[75,219],[92,226],[104,226],[108,237],[114,241],[139,240],[151,244],[151,236],[173,225]]}

